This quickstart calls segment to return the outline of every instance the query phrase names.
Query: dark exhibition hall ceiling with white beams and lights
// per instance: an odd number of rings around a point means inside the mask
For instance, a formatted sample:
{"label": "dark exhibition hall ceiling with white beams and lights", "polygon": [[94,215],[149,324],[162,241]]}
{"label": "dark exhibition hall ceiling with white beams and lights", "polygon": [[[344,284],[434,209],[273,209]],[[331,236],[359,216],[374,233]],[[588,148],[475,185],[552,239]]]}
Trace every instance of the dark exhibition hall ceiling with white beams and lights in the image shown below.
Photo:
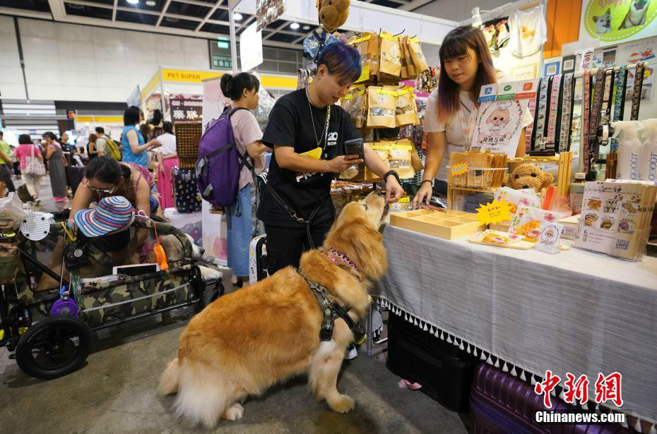
{"label": "dark exhibition hall ceiling with white beams and lights", "polygon": [[[427,3],[425,0],[365,1],[406,11],[420,2]],[[197,37],[230,33],[228,0],[0,0],[0,14]],[[256,20],[246,13],[235,18],[238,36]],[[276,20],[263,30],[263,42],[301,47],[312,30],[308,24]]]}

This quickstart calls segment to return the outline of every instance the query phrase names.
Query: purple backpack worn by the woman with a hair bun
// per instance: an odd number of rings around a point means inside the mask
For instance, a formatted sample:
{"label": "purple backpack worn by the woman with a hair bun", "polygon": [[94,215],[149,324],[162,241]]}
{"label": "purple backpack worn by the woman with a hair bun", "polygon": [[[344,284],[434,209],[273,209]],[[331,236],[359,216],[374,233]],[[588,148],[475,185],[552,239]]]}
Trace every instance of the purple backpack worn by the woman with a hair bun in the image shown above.
{"label": "purple backpack worn by the woman with a hair bun", "polygon": [[247,155],[235,145],[230,116],[243,107],[225,110],[219,119],[213,119],[199,142],[199,159],[196,160],[196,182],[201,197],[218,207],[227,207],[237,201],[239,172],[246,166],[251,170]]}

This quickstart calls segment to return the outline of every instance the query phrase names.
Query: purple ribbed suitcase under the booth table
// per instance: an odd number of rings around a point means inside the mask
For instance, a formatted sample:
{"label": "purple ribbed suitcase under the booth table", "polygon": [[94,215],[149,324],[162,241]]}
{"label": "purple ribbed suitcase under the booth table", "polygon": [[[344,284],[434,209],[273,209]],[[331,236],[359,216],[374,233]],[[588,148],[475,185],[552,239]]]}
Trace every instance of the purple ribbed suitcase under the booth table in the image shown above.
{"label": "purple ribbed suitcase under the booth table", "polygon": [[[580,410],[576,406],[550,397],[552,410]],[[528,381],[503,372],[485,362],[479,363],[470,390],[472,433],[541,433],[541,434],[620,434],[634,433],[618,424],[539,425],[537,410],[545,410],[543,395],[534,392]]]}

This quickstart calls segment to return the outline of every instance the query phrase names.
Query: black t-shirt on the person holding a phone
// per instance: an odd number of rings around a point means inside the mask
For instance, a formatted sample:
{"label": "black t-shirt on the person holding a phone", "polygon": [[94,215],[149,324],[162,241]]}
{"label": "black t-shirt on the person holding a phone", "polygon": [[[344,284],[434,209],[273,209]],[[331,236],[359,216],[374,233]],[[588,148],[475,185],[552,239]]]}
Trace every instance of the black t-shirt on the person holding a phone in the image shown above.
{"label": "black t-shirt on the person holding a phone", "polygon": [[[329,108],[331,109],[331,121],[325,141],[324,127]],[[310,115],[311,110],[312,116]],[[315,129],[314,133],[311,126]],[[326,160],[344,154],[343,143],[345,140],[361,137],[360,131],[342,107],[329,106],[317,109],[309,104],[306,91],[300,89],[280,97],[276,102],[269,115],[262,141],[270,147],[274,145],[294,147],[295,152],[301,154],[318,147],[315,134],[316,138],[320,140],[319,146],[324,147],[321,159]],[[300,174],[288,169],[281,169],[278,167],[276,152],[274,152],[269,163],[267,182],[271,183],[276,193],[303,219],[308,219],[312,210],[324,201],[312,220],[314,224],[325,222],[335,216],[336,210],[331,198],[328,197],[331,194],[333,175],[321,172]],[[325,198],[326,200],[324,200]],[[257,216],[266,224],[273,226],[303,227],[285,212],[266,188],[261,196]]]}

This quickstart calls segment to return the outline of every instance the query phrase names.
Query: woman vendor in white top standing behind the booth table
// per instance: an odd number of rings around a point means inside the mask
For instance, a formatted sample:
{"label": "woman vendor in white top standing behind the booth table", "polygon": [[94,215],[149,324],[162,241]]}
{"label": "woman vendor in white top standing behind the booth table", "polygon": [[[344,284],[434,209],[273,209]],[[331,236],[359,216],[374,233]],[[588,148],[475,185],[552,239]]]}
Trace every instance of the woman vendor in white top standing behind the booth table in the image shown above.
{"label": "woman vendor in white top standing behind the booth table", "polygon": [[[485,37],[478,28],[464,25],[452,30],[440,46],[439,54],[438,88],[430,95],[425,113],[429,144],[425,172],[420,190],[413,198],[413,207],[429,203],[433,193],[447,193],[449,156],[452,152],[466,151],[478,108],[479,91],[483,85],[497,82]],[[524,127],[532,121],[533,116],[525,110],[516,157],[525,155]]]}

